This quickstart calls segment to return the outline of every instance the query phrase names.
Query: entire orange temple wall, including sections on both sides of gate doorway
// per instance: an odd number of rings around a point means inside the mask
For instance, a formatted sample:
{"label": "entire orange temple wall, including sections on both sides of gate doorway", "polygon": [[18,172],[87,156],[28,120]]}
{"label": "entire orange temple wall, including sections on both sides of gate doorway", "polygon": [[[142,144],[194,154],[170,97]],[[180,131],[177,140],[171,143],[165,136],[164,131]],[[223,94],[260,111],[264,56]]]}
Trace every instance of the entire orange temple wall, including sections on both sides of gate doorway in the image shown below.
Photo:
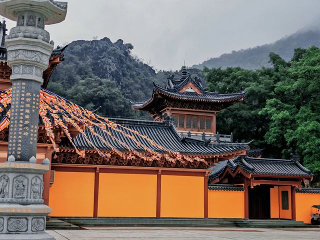
{"label": "entire orange temple wall, including sections on both sides of gate doorway", "polygon": [[[203,173],[196,173],[203,176],[187,175],[189,172],[180,171],[162,173],[159,177],[158,170],[113,170],[97,174],[94,167],[82,172],[71,169],[55,171],[49,194],[51,216],[94,216],[94,188],[98,176],[98,217],[203,218],[207,202],[209,218],[244,218],[244,191],[208,190],[205,201]],[[281,209],[281,190],[289,193],[287,210]],[[291,218],[290,197],[290,186],[270,188],[271,218]],[[320,194],[296,193],[295,198],[296,220],[310,223],[310,207],[320,203]]]}

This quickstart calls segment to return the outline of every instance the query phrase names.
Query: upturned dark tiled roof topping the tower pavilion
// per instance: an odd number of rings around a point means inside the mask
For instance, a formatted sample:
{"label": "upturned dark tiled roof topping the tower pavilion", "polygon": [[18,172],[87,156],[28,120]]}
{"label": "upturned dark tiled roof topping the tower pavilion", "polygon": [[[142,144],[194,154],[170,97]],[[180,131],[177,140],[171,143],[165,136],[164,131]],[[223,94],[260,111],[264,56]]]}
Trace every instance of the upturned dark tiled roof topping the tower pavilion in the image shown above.
{"label": "upturned dark tiled roof topping the tower pavilion", "polygon": [[[146,110],[151,114],[159,114],[165,107],[193,108],[219,111],[244,98],[244,92],[218,93],[206,91],[198,77],[192,78],[182,71],[180,80],[174,75],[168,77],[164,87],[154,84],[150,99],[132,103],[135,110]],[[189,103],[185,106],[185,103]]]}

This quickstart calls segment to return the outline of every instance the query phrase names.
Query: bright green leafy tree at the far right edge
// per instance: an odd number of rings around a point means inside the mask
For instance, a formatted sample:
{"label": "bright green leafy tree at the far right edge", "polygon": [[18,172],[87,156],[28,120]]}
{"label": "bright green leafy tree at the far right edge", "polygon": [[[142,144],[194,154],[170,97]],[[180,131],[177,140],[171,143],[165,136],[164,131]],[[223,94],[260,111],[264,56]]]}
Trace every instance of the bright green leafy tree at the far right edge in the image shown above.
{"label": "bright green leafy tree at the far right edge", "polygon": [[296,49],[287,66],[278,68],[274,97],[260,115],[270,119],[267,143],[282,156],[296,152],[318,179],[320,172],[320,49]]}

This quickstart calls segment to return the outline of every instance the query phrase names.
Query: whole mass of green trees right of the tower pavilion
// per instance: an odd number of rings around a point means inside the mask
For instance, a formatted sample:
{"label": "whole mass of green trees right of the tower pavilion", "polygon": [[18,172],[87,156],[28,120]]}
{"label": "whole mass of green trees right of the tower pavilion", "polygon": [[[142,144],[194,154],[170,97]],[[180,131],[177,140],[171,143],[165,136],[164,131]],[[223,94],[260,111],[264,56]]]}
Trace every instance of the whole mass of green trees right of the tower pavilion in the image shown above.
{"label": "whole mass of green trees right of the tower pavilion", "polygon": [[204,68],[208,89],[236,92],[244,89],[245,100],[217,115],[220,132],[233,131],[239,139],[254,139],[254,147],[266,148],[264,156],[290,157],[297,153],[320,172],[320,49],[297,48],[286,62],[269,54],[271,68]]}

